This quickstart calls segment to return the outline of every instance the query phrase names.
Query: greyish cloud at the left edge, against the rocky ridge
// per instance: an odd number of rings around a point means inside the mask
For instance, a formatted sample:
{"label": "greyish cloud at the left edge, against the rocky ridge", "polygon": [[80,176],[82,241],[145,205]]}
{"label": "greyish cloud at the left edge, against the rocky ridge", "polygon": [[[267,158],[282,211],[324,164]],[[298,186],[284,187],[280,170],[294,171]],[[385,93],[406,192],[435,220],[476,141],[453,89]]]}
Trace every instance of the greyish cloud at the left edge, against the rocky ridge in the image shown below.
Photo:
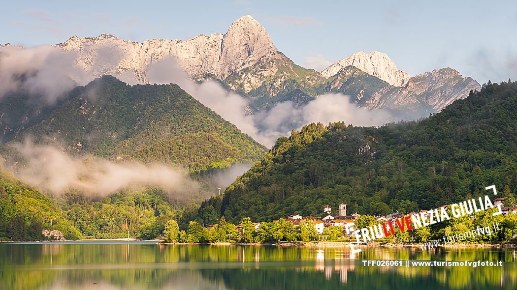
{"label": "greyish cloud at the left edge, against the rocky ridge", "polygon": [[10,92],[26,92],[42,96],[50,103],[62,98],[78,85],[94,78],[112,74],[134,85],[134,72],[113,73],[123,58],[123,52],[113,44],[97,48],[95,59],[86,69],[78,62],[78,54],[56,46],[43,45],[30,49],[21,46],[0,47],[0,99]]}

